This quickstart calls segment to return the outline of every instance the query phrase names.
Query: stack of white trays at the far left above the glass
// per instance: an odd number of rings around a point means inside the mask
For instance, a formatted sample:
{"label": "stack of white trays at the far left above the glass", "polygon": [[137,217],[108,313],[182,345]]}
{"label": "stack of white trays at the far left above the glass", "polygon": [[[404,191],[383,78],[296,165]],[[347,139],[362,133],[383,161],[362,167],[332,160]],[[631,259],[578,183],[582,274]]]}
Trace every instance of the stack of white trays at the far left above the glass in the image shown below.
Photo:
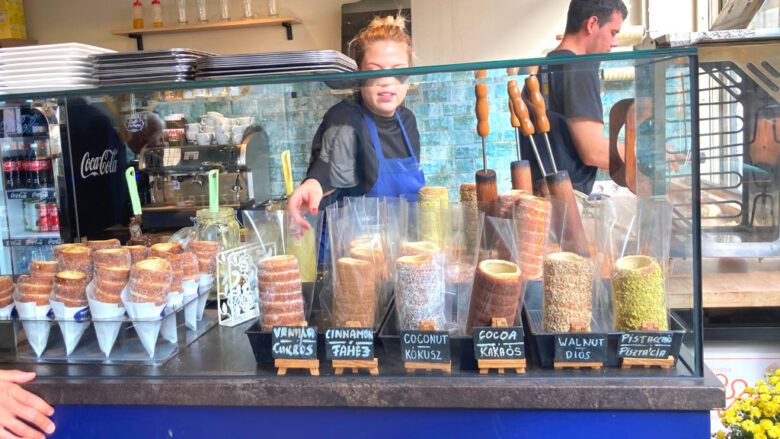
{"label": "stack of white trays at the far left above the glass", "polygon": [[89,56],[111,52],[81,43],[0,49],[0,94],[94,87]]}

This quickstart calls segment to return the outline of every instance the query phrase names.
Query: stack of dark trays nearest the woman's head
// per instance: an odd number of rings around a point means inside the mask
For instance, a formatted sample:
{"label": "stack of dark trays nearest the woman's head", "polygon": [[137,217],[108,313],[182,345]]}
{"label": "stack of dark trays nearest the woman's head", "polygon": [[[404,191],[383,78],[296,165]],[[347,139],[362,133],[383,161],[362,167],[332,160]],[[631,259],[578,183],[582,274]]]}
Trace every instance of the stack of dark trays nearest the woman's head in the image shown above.
{"label": "stack of dark trays nearest the woman's head", "polygon": [[253,53],[203,58],[197,79],[251,78],[272,75],[352,72],[355,61],[335,50]]}

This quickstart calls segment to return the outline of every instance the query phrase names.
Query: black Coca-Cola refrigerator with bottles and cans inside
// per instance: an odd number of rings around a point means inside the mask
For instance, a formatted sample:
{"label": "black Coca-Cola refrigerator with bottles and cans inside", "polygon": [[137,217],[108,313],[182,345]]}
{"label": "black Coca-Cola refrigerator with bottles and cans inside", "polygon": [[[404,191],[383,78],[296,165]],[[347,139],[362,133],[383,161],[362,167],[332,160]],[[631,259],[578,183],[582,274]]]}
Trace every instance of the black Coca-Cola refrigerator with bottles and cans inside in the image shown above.
{"label": "black Coca-Cola refrigerator with bottles and cans inside", "polygon": [[27,274],[61,243],[123,236],[126,148],[108,114],[81,98],[0,102],[0,274]]}

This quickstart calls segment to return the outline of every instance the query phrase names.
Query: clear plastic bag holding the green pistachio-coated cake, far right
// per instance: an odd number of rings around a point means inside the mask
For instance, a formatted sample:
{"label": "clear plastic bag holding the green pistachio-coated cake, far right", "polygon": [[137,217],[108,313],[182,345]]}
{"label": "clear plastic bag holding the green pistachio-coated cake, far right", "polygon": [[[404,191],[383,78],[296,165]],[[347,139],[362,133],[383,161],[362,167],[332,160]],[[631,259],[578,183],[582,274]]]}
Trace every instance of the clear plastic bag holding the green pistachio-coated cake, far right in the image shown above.
{"label": "clear plastic bag holding the green pistachio-coated cake, far right", "polygon": [[671,223],[672,207],[663,199],[630,196],[602,202],[597,272],[609,273],[611,294],[606,283],[599,282],[596,300],[603,310],[600,320],[614,330],[639,330],[644,323],[669,328],[666,269]]}

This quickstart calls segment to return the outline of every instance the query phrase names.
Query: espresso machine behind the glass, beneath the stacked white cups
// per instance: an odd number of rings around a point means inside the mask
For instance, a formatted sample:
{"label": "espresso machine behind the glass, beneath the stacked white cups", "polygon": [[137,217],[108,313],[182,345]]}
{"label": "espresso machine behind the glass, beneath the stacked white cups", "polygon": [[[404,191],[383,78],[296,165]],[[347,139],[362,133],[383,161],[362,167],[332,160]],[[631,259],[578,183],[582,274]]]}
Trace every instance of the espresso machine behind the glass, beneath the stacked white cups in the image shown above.
{"label": "espresso machine behind the glass, beneath the stacked white cups", "polygon": [[145,180],[141,185],[146,192],[141,197],[144,228],[192,225],[195,212],[208,207],[207,177],[212,169],[220,171],[220,205],[236,209],[241,218],[240,211],[252,207],[256,196],[266,196],[268,161],[255,156],[267,155],[267,139],[262,129],[255,129],[235,145],[145,146],[138,156],[139,178]]}

